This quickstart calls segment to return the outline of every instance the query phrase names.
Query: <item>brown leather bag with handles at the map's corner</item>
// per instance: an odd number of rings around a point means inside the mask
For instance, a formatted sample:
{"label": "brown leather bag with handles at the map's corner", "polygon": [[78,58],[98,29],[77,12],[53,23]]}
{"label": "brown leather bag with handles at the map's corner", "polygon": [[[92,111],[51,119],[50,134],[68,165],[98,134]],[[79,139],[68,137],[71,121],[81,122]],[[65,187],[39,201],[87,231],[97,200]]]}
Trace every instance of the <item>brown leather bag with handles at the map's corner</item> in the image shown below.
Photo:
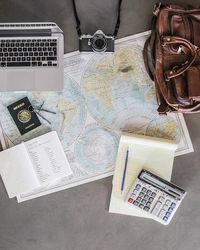
{"label": "brown leather bag with handles at the map's corner", "polygon": [[157,4],[144,46],[158,112],[200,112],[200,9]]}

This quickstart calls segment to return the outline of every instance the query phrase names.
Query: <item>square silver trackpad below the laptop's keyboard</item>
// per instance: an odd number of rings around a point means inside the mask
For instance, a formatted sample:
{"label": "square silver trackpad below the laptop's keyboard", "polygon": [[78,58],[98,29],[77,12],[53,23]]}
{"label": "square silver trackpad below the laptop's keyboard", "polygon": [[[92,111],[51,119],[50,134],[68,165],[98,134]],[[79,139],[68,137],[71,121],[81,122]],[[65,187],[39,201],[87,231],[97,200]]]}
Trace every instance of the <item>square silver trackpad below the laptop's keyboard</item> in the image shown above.
{"label": "square silver trackpad below the laptop's keyboard", "polygon": [[7,72],[7,88],[13,91],[35,90],[35,70],[13,70]]}

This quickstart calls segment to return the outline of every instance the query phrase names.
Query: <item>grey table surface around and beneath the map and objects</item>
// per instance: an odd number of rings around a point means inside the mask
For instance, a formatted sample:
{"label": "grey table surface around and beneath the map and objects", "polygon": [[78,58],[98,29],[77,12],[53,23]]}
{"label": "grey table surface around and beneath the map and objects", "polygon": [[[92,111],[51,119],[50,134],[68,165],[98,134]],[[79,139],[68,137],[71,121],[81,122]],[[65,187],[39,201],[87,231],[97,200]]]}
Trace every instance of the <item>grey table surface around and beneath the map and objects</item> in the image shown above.
{"label": "grey table surface around and beneath the map and objects", "polygon": [[[117,0],[76,1],[84,32],[112,32]],[[124,0],[118,37],[150,29],[155,2]],[[199,0],[176,1],[183,2],[197,5]],[[77,50],[71,0],[0,1],[0,22],[23,21],[56,22],[65,34],[65,52]],[[185,120],[194,153],[175,158],[172,181],[188,194],[169,226],[109,214],[111,177],[21,204],[8,199],[0,182],[0,250],[200,249],[200,114]]]}

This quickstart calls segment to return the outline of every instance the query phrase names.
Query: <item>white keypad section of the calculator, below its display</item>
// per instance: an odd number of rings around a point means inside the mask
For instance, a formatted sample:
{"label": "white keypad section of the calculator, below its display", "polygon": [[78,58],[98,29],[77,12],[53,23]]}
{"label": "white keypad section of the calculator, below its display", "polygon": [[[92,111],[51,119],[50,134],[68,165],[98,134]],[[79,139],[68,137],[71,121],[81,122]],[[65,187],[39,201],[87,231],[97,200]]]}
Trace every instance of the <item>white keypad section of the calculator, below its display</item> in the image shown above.
{"label": "white keypad section of the calculator, below its display", "polygon": [[173,197],[139,179],[131,188],[127,202],[163,224],[169,223],[178,207]]}

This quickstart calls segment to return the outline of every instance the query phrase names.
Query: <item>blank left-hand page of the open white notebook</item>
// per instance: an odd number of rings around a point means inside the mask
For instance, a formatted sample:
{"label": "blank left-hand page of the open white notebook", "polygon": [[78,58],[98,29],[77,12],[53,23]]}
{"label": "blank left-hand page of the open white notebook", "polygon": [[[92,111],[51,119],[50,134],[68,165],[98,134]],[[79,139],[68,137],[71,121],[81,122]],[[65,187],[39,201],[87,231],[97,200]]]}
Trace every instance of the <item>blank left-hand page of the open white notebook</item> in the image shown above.
{"label": "blank left-hand page of the open white notebook", "polygon": [[23,143],[0,153],[0,174],[9,198],[40,186]]}

